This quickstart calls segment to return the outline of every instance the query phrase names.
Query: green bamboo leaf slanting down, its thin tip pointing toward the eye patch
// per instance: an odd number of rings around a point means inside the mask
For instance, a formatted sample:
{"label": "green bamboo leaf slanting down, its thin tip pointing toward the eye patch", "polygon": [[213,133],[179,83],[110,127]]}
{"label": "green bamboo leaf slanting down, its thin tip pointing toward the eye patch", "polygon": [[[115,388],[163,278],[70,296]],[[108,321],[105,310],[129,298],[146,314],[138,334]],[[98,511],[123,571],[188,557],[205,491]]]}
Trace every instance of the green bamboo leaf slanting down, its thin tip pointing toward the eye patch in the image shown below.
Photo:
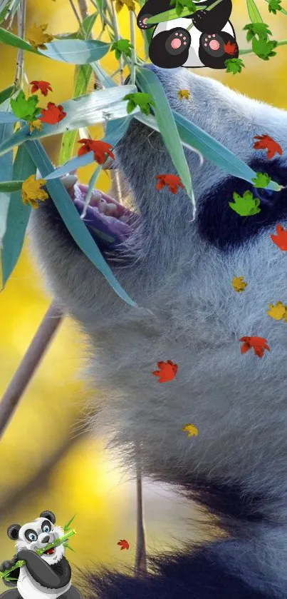
{"label": "green bamboo leaf slanting down, its thin tip pointing toward the eye patch", "polygon": [[162,84],[157,75],[149,69],[137,67],[136,73],[140,89],[147,94],[150,94],[155,101],[153,111],[155,112],[155,118],[157,119],[160,134],[165,142],[169,156],[172,158],[174,167],[177,169],[177,173],[187,191],[187,195],[191,198],[192,203],[195,206],[192,179],[189,173],[187,160],[184,156],[179,132],[177,131],[177,126],[174,122],[174,117],[172,116],[172,110],[170,109]]}

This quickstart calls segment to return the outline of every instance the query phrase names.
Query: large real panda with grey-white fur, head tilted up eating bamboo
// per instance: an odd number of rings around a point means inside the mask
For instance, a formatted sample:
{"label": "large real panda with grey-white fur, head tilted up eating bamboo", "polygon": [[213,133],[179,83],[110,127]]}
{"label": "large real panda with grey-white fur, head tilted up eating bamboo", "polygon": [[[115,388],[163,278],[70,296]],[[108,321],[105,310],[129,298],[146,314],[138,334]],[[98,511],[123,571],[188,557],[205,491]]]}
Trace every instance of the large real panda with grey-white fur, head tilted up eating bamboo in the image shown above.
{"label": "large real panda with grey-white fur, head tilted up eating bamboo", "polygon": [[[191,73],[152,69],[172,109],[214,136],[256,172],[287,184],[287,112]],[[189,101],[178,90],[189,91]],[[268,160],[254,136],[283,149]],[[287,228],[287,191],[266,193],[184,149],[197,201],[179,188],[156,189],[176,173],[162,138],[132,120],[115,149],[133,210],[97,191],[88,227],[122,233],[101,251],[137,306],[122,301],[80,251],[53,201],[31,217],[33,253],[51,294],[89,345],[87,376],[101,392],[89,426],[108,439],[125,471],[169,483],[210,515],[206,543],[152,555],[149,573],[93,572],[87,599],[282,599],[287,596],[287,324],[268,306],[287,303],[287,256],[271,234]],[[66,180],[83,206],[87,186]],[[234,191],[260,192],[261,212],[231,210]],[[99,196],[101,196],[99,198]],[[122,227],[125,226],[125,232]],[[236,293],[234,276],[245,291]],[[241,353],[243,336],[270,351]],[[152,373],[177,364],[172,381]],[[98,397],[98,395],[97,395]],[[198,436],[184,425],[194,423]],[[172,544],[172,539],[171,539]]]}

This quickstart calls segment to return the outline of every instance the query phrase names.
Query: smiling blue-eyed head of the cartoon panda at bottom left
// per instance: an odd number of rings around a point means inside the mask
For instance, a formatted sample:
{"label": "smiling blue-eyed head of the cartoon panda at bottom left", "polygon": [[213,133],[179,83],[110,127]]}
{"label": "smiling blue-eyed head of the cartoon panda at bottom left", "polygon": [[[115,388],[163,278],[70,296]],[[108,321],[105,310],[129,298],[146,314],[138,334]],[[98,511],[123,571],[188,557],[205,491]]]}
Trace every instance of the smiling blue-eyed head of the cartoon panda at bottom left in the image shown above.
{"label": "smiling blue-eyed head of the cartoon panda at bottom left", "polygon": [[[50,515],[51,520],[46,514]],[[64,530],[61,526],[56,526],[54,515],[47,512],[22,526],[11,525],[8,529],[8,535],[16,540],[17,551],[21,549],[36,551],[45,548],[48,543],[53,543],[54,540],[62,537]],[[43,553],[41,557],[51,565],[58,563],[63,558],[64,553],[65,548],[63,545],[58,545],[58,547],[49,549],[47,553]]]}

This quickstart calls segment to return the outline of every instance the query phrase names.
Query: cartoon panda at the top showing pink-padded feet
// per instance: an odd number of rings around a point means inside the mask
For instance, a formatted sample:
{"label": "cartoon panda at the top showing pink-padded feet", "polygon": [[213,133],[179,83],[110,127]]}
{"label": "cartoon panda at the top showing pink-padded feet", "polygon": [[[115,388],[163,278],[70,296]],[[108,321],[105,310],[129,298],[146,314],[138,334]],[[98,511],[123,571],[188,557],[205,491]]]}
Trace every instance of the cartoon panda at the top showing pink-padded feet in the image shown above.
{"label": "cartoon panda at the top showing pink-padded feet", "polygon": [[142,6],[137,16],[137,26],[142,30],[155,27],[149,55],[156,66],[163,69],[179,66],[226,69],[226,60],[238,58],[239,47],[229,21],[231,0],[217,3],[214,0],[194,0],[194,4],[204,8],[156,26],[147,24],[148,19],[172,9],[170,0],[147,0]]}

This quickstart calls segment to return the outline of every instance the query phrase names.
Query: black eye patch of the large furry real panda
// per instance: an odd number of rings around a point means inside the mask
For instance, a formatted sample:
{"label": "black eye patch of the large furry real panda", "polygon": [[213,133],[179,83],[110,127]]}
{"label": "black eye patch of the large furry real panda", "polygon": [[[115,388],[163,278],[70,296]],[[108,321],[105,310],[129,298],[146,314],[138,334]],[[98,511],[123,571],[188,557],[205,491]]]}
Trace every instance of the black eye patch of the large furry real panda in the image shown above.
{"label": "black eye patch of the large furry real panda", "polygon": [[[268,173],[273,181],[283,186],[287,185],[287,165],[283,163],[282,158],[274,158],[270,162],[254,158],[249,166],[256,173]],[[230,208],[229,202],[234,201],[234,191],[243,196],[247,190],[260,199],[261,212],[252,216],[240,216]],[[286,218],[287,189],[267,191],[254,188],[243,179],[229,177],[205,195],[199,208],[197,223],[203,238],[220,250],[228,251],[249,241],[262,229]]]}

